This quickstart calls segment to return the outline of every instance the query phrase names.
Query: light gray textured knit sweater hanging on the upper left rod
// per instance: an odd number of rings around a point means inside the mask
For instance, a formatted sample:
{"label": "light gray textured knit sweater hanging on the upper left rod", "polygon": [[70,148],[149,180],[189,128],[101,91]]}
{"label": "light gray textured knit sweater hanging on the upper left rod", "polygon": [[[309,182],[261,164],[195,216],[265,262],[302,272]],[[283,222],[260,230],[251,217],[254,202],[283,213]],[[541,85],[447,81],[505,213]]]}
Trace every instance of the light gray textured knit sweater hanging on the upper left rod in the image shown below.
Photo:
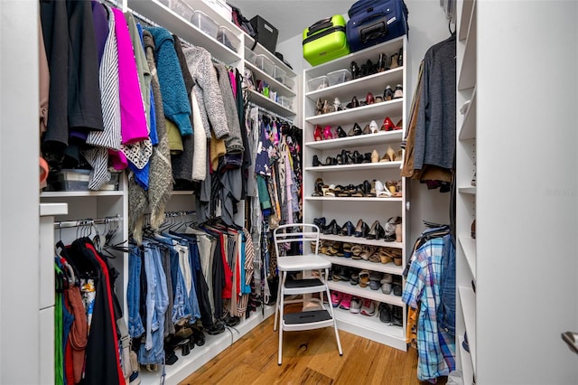
{"label": "light gray textured knit sweater hanging on the upper left rod", "polygon": [[210,138],[210,127],[218,138],[228,136],[227,116],[210,53],[196,46],[183,47],[182,52],[187,58],[192,79],[195,80],[192,90],[199,102],[200,117],[207,137]]}

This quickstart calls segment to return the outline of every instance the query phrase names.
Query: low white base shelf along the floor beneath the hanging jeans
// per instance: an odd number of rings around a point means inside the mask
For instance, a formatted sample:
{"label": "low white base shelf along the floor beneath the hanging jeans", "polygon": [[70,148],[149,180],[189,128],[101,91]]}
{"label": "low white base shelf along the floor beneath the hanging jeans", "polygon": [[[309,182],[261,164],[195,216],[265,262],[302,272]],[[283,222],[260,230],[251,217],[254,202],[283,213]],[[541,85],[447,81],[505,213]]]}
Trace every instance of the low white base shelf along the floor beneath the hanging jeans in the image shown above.
{"label": "low white base shelf along the floor beneath the hanging jeans", "polygon": [[[241,323],[235,327],[228,328],[228,331],[226,330],[224,333],[216,335],[205,333],[205,344],[202,346],[195,345],[186,356],[183,356],[180,350],[176,350],[175,354],[178,360],[172,365],[165,366],[166,377],[164,378],[164,384],[179,384],[182,380],[189,377],[193,371],[199,370],[204,364],[219,355],[220,352],[223,352],[233,343],[236,343],[258,324],[274,314],[275,306],[265,306],[265,315],[261,313],[260,309],[257,309],[257,311],[251,313],[247,319],[243,319]],[[161,372],[162,365],[159,365],[158,371],[140,371],[141,384],[158,384]]]}

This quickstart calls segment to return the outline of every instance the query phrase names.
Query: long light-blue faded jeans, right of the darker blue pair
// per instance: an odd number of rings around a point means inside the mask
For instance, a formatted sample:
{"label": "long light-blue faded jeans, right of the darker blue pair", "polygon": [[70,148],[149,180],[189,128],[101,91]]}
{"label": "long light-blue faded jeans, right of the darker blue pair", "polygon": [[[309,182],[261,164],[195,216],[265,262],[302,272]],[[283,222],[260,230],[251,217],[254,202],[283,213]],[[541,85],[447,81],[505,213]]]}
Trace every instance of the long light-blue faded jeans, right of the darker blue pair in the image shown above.
{"label": "long light-blue faded jeans, right of the darker blue pair", "polygon": [[146,341],[141,344],[139,362],[164,361],[164,313],[169,305],[161,252],[157,245],[144,242],[144,270],[146,271]]}

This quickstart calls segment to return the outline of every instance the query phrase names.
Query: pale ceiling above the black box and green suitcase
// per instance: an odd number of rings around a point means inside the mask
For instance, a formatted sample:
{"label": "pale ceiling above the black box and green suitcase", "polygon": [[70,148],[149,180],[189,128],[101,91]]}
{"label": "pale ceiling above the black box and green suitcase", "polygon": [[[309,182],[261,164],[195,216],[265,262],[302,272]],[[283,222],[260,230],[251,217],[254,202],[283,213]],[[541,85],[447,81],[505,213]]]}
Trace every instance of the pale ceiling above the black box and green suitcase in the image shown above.
{"label": "pale ceiling above the black box and green suitcase", "polygon": [[284,42],[312,23],[333,14],[347,14],[355,0],[228,0],[251,19],[257,14],[279,31],[277,42]]}

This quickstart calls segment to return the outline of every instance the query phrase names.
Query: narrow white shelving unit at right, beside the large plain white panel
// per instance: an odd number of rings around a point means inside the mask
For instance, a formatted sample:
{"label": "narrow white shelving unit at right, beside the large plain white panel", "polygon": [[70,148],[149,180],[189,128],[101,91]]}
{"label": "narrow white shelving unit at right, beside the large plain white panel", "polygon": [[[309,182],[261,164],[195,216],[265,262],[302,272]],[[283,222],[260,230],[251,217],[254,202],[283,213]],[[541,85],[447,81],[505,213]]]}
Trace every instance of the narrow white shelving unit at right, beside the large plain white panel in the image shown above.
{"label": "narrow white shelving unit at right, beside the large plain white panel", "polygon": [[[477,25],[476,1],[463,0],[458,6],[458,39],[456,47],[457,61],[457,95],[456,127],[456,349],[459,365],[463,371],[463,383],[471,385],[476,379],[476,294],[474,286],[477,278],[477,245],[471,238],[471,222],[476,218],[477,186],[471,185],[476,172],[476,126],[477,126],[477,92],[476,92],[476,52]],[[464,104],[469,103],[465,111]],[[461,112],[465,112],[463,115]],[[477,183],[476,183],[477,184]],[[467,333],[470,352],[462,346]]]}

